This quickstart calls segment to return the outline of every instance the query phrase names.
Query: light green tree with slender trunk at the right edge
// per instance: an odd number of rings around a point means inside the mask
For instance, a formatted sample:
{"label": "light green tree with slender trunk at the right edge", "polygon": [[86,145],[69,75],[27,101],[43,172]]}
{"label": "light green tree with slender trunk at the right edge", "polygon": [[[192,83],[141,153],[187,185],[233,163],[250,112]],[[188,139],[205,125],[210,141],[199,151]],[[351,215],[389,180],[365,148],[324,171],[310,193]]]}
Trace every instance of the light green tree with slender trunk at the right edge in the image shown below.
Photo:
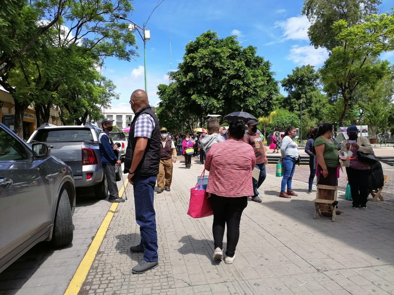
{"label": "light green tree with slender trunk at the right edge", "polygon": [[351,28],[341,20],[332,29],[341,45],[332,50],[321,69],[321,75],[328,94],[341,95],[343,110],[340,123],[343,126],[355,90],[362,85],[373,88],[389,73],[388,61],[377,58],[393,48],[394,17],[372,15],[366,18],[365,23]]}

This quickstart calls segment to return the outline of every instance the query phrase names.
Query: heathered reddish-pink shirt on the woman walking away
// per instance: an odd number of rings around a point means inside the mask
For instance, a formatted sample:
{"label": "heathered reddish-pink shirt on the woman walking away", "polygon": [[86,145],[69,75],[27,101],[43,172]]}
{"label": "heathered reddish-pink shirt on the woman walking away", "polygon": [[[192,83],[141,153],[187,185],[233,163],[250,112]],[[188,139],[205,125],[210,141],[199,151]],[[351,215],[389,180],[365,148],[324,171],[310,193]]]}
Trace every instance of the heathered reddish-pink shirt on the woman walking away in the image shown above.
{"label": "heathered reddish-pink shirt on the woman walking away", "polygon": [[205,159],[205,169],[209,171],[206,191],[222,197],[253,196],[255,165],[253,148],[242,140],[214,144]]}

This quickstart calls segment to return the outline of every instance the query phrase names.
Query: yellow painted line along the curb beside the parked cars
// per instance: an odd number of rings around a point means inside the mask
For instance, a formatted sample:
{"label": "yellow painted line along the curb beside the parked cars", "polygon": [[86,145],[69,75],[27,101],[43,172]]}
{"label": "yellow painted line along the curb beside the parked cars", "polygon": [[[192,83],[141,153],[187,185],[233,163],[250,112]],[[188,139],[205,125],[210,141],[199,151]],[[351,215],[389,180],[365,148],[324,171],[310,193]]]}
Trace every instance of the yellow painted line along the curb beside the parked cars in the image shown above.
{"label": "yellow painted line along the curb beside the parked cars", "polygon": [[[128,181],[129,180],[126,179],[126,181],[123,183],[124,185],[122,185],[119,190],[119,196],[122,196],[125,192],[125,187],[127,186]],[[85,279],[88,276],[89,269],[96,258],[97,251],[99,251],[102,240],[104,239],[104,236],[108,230],[109,224],[111,223],[112,217],[114,216],[115,210],[118,205],[119,203],[113,203],[109,208],[107,215],[105,215],[105,218],[102,221],[95,238],[90,244],[89,249],[86,252],[81,263],[79,264],[64,295],[77,295],[78,292],[81,290],[82,284],[85,282]]]}

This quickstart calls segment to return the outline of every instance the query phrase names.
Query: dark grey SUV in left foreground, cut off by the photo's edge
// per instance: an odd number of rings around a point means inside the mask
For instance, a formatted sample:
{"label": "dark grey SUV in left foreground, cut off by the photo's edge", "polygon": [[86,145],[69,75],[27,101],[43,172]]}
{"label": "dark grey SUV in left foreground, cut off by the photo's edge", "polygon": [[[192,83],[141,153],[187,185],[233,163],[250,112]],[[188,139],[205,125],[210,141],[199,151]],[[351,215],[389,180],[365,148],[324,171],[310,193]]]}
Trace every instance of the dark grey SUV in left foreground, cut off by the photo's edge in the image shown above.
{"label": "dark grey SUV in left foreground, cut off by the photo's edge", "polygon": [[0,123],[0,272],[40,241],[71,243],[74,208],[70,167]]}

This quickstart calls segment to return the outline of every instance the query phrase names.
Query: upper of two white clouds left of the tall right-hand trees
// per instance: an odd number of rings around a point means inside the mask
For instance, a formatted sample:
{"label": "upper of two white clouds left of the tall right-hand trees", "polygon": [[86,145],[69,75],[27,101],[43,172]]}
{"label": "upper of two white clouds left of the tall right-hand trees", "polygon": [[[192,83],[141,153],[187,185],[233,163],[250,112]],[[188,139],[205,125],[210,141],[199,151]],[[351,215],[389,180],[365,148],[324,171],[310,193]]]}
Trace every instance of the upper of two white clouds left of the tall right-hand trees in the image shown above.
{"label": "upper of two white clouds left of the tall right-hand trees", "polygon": [[304,15],[288,18],[284,22],[277,23],[277,26],[283,29],[284,40],[309,40],[310,23]]}

